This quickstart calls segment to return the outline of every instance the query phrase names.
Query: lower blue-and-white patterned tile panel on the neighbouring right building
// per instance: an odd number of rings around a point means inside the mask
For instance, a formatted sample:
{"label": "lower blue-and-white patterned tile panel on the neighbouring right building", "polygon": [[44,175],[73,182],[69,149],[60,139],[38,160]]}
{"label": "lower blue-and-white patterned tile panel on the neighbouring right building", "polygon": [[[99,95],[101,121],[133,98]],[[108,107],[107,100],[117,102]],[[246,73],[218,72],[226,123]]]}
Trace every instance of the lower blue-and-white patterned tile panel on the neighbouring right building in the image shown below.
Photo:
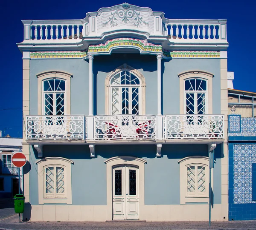
{"label": "lower blue-and-white patterned tile panel on the neighbouring right building", "polygon": [[252,200],[252,163],[256,162],[256,144],[233,145],[234,204],[256,203]]}

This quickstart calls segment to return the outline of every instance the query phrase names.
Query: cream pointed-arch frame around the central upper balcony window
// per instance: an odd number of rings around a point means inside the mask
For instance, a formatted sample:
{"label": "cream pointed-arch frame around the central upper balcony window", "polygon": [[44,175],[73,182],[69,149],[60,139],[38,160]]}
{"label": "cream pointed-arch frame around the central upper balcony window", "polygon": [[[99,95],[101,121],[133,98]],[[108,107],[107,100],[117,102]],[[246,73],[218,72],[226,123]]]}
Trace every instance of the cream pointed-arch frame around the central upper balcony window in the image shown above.
{"label": "cream pointed-arch frame around the central upper balcony window", "polygon": [[105,79],[105,114],[111,115],[111,92],[110,92],[110,82],[111,78],[122,71],[129,71],[140,79],[140,108],[139,115],[145,115],[145,77],[140,73],[140,71],[134,69],[133,67],[127,65],[126,63],[117,67],[115,70],[111,71]]}

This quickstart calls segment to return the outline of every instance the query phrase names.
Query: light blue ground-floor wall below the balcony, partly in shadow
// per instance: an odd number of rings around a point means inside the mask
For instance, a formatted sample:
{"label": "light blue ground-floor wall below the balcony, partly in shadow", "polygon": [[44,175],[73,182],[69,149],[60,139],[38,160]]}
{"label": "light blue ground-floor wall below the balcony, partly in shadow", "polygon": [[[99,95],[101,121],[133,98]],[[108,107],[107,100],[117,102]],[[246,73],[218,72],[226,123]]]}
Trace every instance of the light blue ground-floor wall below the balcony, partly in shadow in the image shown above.
{"label": "light blue ground-floor wall below the balcony, partly in shadow", "polygon": [[[30,202],[38,204],[37,153],[31,148]],[[44,146],[44,157],[61,156],[71,165],[72,204],[106,205],[107,184],[104,161],[113,156],[137,156],[145,159],[145,204],[180,204],[180,165],[186,156],[207,156],[207,145],[163,145],[162,157],[156,158],[155,145],[96,145],[96,158],[90,158],[88,145]],[[213,169],[214,204],[221,203],[221,145],[215,149]]]}

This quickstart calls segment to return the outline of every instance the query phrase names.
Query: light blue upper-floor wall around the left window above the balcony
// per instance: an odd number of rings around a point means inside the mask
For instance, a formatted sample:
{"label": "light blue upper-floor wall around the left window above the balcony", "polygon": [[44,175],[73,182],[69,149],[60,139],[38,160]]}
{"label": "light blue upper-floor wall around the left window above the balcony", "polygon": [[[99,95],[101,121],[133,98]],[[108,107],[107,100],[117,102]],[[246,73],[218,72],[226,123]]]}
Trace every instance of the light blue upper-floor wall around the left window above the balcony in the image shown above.
{"label": "light blue upper-floor wall around the left window above the balcony", "polygon": [[47,71],[72,74],[71,114],[88,115],[89,64],[79,59],[30,60],[30,114],[38,114],[38,79],[36,75]]}

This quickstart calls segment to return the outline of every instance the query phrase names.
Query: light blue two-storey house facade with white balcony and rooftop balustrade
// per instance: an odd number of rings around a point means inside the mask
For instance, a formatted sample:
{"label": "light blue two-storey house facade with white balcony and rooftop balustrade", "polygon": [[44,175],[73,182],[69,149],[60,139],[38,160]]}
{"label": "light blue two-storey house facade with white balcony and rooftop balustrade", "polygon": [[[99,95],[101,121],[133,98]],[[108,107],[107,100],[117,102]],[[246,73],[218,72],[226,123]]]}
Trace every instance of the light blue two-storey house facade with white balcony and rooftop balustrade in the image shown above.
{"label": "light blue two-storey house facade with white balcony and rooftop balustrade", "polygon": [[227,220],[226,20],[23,24],[23,220]]}

